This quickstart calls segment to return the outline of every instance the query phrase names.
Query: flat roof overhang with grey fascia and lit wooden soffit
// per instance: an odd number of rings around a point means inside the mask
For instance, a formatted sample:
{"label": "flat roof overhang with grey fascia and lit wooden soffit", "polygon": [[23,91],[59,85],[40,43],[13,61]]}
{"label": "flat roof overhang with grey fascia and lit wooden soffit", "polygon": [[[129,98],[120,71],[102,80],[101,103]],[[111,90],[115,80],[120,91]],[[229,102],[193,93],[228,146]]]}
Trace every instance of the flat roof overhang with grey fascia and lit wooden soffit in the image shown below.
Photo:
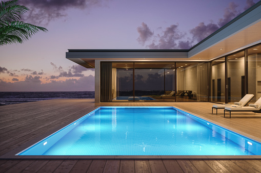
{"label": "flat roof overhang with grey fascia and lit wooden soffit", "polygon": [[190,50],[72,50],[66,58],[86,68],[95,60],[210,61],[261,43],[261,1]]}

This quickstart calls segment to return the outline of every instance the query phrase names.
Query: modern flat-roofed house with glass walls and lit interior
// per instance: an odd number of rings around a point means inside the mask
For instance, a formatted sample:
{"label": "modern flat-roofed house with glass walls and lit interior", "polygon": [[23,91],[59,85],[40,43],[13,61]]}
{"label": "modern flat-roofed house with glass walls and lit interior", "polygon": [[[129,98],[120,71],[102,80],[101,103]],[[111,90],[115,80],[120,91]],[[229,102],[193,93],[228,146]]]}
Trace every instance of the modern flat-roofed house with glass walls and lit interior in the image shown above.
{"label": "modern flat-roofed house with glass walls and lit interior", "polygon": [[95,103],[217,102],[261,97],[261,1],[189,50],[71,50],[95,68]]}

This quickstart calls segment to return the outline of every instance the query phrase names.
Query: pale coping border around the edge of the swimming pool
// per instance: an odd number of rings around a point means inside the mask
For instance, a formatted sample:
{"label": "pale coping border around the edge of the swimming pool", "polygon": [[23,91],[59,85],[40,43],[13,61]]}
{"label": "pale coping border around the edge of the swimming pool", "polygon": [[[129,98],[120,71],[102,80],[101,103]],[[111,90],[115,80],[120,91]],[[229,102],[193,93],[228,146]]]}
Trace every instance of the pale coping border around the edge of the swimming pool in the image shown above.
{"label": "pale coping border around the edge of the swimming pool", "polygon": [[[101,106],[101,107],[104,107],[104,106]],[[107,106],[105,106],[105,107],[107,107]],[[145,107],[147,107],[147,106],[145,106]],[[155,107],[155,106],[153,106],[153,107]],[[159,106],[159,107],[164,107],[164,106]],[[246,136],[248,138],[251,138],[251,139],[256,140],[256,141],[261,143],[260,138],[249,135],[247,133],[244,133],[244,132],[241,132],[241,131],[238,131],[238,130],[235,130],[233,128],[230,128],[228,126],[223,125],[222,123],[218,123],[218,122],[210,120],[206,117],[197,115],[195,113],[191,113],[189,111],[186,111],[184,109],[181,109],[181,108],[178,108],[178,107],[175,107],[175,106],[167,106],[167,107],[174,107],[176,109],[187,112],[191,115],[202,118],[204,120],[207,120],[209,122],[214,123],[215,125],[226,128],[228,130],[231,130],[235,133]],[[36,142],[46,138],[47,136],[57,132],[58,130],[64,128],[65,126],[67,126],[67,125],[61,125],[61,126],[55,128],[55,129],[45,133],[44,135],[41,135],[41,136],[21,145],[19,147],[16,147],[15,150],[12,150],[12,151],[0,156],[0,159],[261,159],[260,155],[248,155],[248,156],[245,156],[245,155],[237,155],[237,156],[235,156],[235,155],[229,155],[229,156],[226,156],[226,155],[156,155],[156,156],[152,156],[152,155],[148,155],[148,156],[143,156],[143,155],[141,155],[141,156],[140,155],[129,155],[129,156],[125,156],[125,155],[121,155],[121,156],[118,156],[118,155],[108,155],[108,156],[103,156],[103,155],[102,156],[98,156],[98,155],[92,155],[92,156],[81,156],[81,155],[79,155],[79,156],[78,155],[77,156],[38,156],[37,155],[37,156],[17,156],[17,155],[15,155],[15,154],[27,149],[28,147],[35,144]]]}

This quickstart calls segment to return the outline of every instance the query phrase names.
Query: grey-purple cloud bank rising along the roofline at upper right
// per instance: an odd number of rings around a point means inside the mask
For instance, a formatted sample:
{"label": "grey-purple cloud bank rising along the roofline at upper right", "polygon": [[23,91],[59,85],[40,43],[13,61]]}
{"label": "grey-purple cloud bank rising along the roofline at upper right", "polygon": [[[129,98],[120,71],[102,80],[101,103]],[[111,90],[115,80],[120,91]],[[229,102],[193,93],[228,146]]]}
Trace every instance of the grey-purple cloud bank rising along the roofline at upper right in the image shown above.
{"label": "grey-purple cloud bank rising along the roofline at upper right", "polygon": [[[253,6],[255,3],[253,0],[247,0],[245,10]],[[141,27],[137,28],[139,37],[137,39],[139,44],[144,45],[146,41],[152,36],[153,40],[151,43],[146,45],[150,49],[189,49],[196,43],[202,41],[210,34],[218,30],[220,27],[223,27],[233,18],[238,16],[242,11],[237,10],[238,5],[234,2],[229,3],[229,6],[224,10],[223,18],[219,18],[217,23],[207,23],[200,22],[198,26],[194,27],[189,31],[192,34],[192,38],[185,38],[186,33],[180,32],[178,30],[178,24],[172,24],[170,27],[167,27],[163,34],[154,34],[151,32],[146,23],[142,23]],[[162,29],[162,27],[159,27]]]}

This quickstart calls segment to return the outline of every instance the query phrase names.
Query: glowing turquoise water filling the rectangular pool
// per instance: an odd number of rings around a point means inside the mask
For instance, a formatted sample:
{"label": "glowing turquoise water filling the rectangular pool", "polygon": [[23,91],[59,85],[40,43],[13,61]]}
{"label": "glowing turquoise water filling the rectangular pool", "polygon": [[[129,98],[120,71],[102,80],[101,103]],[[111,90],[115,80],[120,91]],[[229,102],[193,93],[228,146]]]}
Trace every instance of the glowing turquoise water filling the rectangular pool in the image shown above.
{"label": "glowing turquoise water filling the rectangular pool", "polygon": [[261,155],[261,144],[173,107],[100,107],[16,155]]}

